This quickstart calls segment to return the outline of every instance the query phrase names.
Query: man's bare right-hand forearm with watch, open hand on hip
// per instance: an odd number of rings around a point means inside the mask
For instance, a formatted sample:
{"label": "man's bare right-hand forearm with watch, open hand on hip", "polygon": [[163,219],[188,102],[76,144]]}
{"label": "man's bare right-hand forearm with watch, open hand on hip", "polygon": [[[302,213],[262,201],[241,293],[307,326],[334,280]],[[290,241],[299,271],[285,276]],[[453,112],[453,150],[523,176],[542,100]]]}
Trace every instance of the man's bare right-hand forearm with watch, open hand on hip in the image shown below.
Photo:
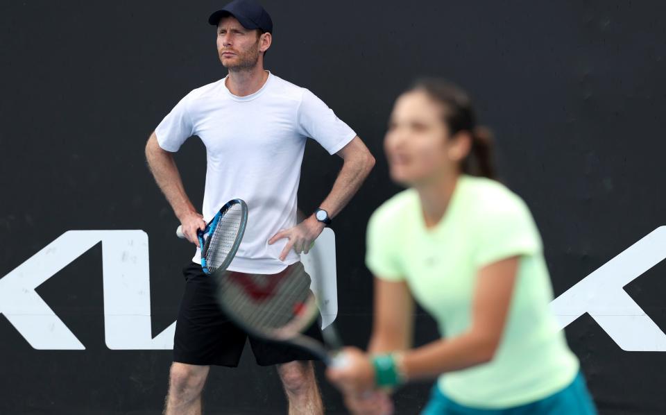
{"label": "man's bare right-hand forearm with watch, open hand on hip", "polygon": [[[375,158],[358,136],[354,137],[336,154],[344,160],[342,169],[338,173],[331,192],[320,205],[321,209],[325,210],[330,218],[336,217],[343,207],[349,203],[351,198],[359,191],[373,166],[375,166]],[[273,244],[282,238],[289,239],[282,253],[280,253],[280,260],[284,261],[291,248],[296,253],[307,253],[324,228],[325,224],[318,221],[314,214],[311,214],[305,221],[298,223],[297,226],[276,233],[268,240],[268,244]]]}

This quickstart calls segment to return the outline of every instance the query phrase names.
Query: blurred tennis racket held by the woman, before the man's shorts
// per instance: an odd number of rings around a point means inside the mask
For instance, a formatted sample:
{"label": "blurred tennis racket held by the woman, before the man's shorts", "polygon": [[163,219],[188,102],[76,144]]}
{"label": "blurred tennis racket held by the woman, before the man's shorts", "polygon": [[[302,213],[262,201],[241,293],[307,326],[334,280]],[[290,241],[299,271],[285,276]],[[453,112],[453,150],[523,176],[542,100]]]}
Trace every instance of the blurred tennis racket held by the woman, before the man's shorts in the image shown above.
{"label": "blurred tennis racket held by the woman, before the man's shorts", "polygon": [[[321,253],[313,250],[307,255]],[[324,298],[322,293],[315,296],[311,291],[311,280],[323,275],[321,261],[316,257],[308,260],[309,272],[302,262],[270,275],[218,269],[213,273],[217,301],[234,323],[253,336],[296,346],[327,366],[339,366],[344,364],[343,355],[338,353],[343,344],[333,324],[323,330],[323,343],[303,334],[320,317],[317,298]]]}

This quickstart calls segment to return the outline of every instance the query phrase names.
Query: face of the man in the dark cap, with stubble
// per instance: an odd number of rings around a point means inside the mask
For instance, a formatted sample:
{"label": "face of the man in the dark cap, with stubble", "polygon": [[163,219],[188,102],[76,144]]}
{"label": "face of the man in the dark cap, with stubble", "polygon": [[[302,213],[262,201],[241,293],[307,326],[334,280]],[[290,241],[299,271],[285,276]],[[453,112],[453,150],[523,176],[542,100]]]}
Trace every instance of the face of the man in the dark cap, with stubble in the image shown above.
{"label": "face of the man in the dark cap, with stubble", "polygon": [[255,67],[261,54],[261,41],[262,36],[257,30],[244,28],[233,16],[223,17],[217,24],[217,53],[227,69]]}

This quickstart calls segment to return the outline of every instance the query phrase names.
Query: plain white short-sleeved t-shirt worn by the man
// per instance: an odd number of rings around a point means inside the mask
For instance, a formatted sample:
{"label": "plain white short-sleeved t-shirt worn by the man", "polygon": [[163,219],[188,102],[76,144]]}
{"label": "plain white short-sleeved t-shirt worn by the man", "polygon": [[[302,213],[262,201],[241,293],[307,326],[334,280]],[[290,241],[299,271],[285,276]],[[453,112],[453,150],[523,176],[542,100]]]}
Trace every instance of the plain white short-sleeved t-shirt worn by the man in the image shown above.
{"label": "plain white short-sleeved t-shirt worn by the man", "polygon": [[[231,271],[278,273],[300,260],[287,244],[268,239],[296,225],[296,193],[305,140],[312,137],[330,154],[356,133],[309,90],[268,74],[262,89],[235,96],[226,78],[193,90],[155,129],[162,149],[175,152],[197,135],[206,146],[203,217],[210,221],[232,198],[248,204],[248,224]],[[197,249],[194,262],[200,262]]]}

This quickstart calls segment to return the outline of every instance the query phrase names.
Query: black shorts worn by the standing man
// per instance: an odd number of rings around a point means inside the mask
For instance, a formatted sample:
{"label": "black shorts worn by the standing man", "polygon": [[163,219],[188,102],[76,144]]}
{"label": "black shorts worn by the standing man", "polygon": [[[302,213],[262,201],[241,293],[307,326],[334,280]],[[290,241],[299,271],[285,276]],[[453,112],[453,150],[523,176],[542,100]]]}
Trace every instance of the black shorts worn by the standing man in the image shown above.
{"label": "black shorts worn by the standing man", "polygon": [[[214,281],[199,264],[191,262],[182,273],[185,276],[185,293],[180,301],[173,338],[173,362],[236,367],[246,339],[250,340],[260,366],[317,360],[305,350],[257,339],[238,328],[220,310],[215,300]],[[316,321],[305,334],[322,341]]]}

